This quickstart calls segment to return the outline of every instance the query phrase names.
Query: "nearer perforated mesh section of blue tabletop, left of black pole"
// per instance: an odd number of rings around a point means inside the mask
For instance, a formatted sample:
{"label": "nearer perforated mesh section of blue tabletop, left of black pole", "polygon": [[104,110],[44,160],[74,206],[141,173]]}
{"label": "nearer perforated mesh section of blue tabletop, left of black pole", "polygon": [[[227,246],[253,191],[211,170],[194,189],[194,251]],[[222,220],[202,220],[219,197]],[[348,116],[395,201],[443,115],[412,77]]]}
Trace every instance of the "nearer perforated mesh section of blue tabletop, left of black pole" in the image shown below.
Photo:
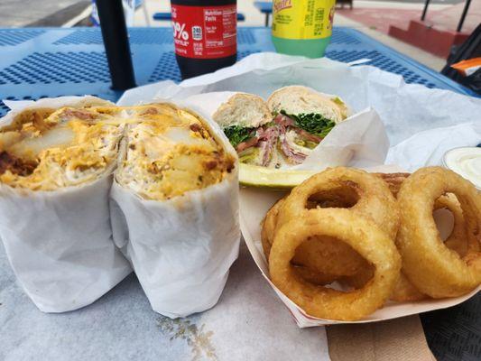
{"label": "nearer perforated mesh section of blue tabletop, left of black pole", "polygon": [[0,71],[1,84],[109,82],[101,51],[34,52]]}

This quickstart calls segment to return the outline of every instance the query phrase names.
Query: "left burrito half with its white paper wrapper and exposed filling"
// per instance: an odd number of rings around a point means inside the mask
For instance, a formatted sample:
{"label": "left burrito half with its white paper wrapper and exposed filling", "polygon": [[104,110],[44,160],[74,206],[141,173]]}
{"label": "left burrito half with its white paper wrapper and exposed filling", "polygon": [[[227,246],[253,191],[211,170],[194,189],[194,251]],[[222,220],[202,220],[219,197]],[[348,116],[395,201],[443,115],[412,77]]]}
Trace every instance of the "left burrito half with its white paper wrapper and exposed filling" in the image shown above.
{"label": "left burrito half with its white paper wrapper and exposed filling", "polygon": [[0,236],[40,310],[75,310],[131,272],[108,194],[124,125],[96,97],[42,99],[0,120]]}

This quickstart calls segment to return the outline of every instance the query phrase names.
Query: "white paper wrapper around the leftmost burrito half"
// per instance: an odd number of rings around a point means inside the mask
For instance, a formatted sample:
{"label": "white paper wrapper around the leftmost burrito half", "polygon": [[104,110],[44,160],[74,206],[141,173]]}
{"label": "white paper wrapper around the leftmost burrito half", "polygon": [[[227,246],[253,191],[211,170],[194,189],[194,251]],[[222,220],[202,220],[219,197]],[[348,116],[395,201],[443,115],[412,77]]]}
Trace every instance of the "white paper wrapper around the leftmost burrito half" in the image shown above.
{"label": "white paper wrapper around the leftmost burrito half", "polygon": [[[60,97],[25,105],[75,106],[94,97]],[[30,191],[0,185],[0,236],[18,282],[44,312],[76,310],[96,301],[132,269],[112,242],[108,194],[112,169],[79,187]]]}

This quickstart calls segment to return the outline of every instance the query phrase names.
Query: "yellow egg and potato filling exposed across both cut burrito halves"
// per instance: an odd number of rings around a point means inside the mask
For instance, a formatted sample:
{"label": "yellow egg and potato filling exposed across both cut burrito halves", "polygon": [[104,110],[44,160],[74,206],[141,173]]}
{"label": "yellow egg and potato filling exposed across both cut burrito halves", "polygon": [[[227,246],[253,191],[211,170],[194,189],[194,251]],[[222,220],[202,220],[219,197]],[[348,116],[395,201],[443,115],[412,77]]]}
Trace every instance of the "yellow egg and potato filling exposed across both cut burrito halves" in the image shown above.
{"label": "yellow egg and potato filling exposed across both cut burrito halves", "polygon": [[206,125],[175,106],[64,107],[23,112],[0,129],[0,182],[57,190],[96,180],[114,169],[123,136],[116,180],[145,199],[203,189],[234,168]]}

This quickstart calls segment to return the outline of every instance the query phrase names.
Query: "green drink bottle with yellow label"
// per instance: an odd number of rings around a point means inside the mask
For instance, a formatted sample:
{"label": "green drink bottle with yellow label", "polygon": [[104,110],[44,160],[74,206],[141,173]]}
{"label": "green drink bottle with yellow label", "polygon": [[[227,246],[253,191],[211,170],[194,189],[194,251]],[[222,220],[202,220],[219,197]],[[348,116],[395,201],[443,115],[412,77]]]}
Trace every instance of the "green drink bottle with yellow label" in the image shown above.
{"label": "green drink bottle with yellow label", "polygon": [[283,54],[320,58],[330,41],[336,0],[273,0],[273,44]]}

